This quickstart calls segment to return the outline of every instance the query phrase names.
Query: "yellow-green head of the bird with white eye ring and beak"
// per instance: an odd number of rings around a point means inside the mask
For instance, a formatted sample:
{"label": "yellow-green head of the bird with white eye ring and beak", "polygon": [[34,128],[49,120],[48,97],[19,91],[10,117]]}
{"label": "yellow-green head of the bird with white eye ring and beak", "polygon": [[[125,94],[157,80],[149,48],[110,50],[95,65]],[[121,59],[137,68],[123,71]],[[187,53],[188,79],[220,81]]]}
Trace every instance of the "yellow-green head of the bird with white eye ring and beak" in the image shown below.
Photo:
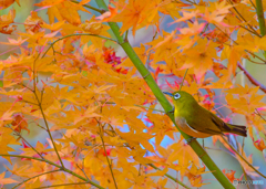
{"label": "yellow-green head of the bird with white eye ring and beak", "polygon": [[177,91],[174,93],[168,92],[163,93],[172,97],[175,108],[182,108],[184,106],[192,105],[193,103],[197,104],[196,99],[190,93],[184,91]]}

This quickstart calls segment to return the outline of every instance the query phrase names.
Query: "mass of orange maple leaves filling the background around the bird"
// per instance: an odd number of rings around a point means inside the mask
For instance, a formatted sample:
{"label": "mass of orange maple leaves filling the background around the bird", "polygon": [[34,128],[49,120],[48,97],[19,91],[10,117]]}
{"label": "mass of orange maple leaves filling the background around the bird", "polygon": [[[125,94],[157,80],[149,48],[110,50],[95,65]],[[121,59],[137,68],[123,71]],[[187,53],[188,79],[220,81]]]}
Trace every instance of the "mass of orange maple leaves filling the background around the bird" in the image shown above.
{"label": "mass of orange maple leaves filling the background around the bird", "polygon": [[[103,11],[90,0],[42,0],[28,12],[23,29],[14,22],[20,17],[16,6],[27,4],[0,0],[0,9],[14,7],[0,17],[0,43],[7,46],[0,52],[0,156],[9,171],[1,169],[1,187],[163,189],[172,185],[168,179],[207,185],[203,175],[212,171],[162,113],[153,78],[164,91],[182,86],[225,122],[243,115],[252,145],[265,151],[266,87],[242,64],[265,64],[258,53],[266,51],[266,38],[254,1],[117,0]],[[81,14],[92,13],[82,21]],[[162,27],[164,18],[172,19],[167,27],[173,30]],[[121,39],[110,32],[115,22],[122,24]],[[152,28],[150,41],[132,49],[129,36],[137,39],[143,28]],[[114,44],[135,54],[120,56]],[[137,72],[141,65],[133,63],[139,60],[151,74]],[[238,67],[250,83],[237,83]],[[217,90],[225,94],[225,104],[217,103]],[[231,115],[223,117],[217,105]],[[250,167],[252,154],[231,136],[246,161],[219,136],[213,141],[231,151],[245,175],[258,177],[257,167]],[[177,172],[174,179],[170,170]],[[223,172],[231,182],[241,179],[236,170]]]}

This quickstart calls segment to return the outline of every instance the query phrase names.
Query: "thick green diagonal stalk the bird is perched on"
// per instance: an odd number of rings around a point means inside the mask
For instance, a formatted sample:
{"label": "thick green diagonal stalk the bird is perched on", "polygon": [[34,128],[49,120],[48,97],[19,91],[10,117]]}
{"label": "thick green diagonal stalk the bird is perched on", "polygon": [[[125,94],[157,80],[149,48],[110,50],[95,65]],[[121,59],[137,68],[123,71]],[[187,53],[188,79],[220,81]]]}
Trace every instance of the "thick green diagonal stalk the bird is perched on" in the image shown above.
{"label": "thick green diagonal stalk the bird is perched on", "polygon": [[[105,2],[103,0],[96,0],[96,3],[99,6],[100,9],[102,10],[109,10]],[[170,111],[172,111],[172,105],[170,104],[170,102],[167,101],[167,98],[164,96],[164,94],[162,93],[161,88],[157,86],[156,82],[154,81],[153,76],[151,75],[151,73],[147,71],[147,69],[144,66],[144,64],[141,62],[140,57],[137,56],[137,54],[135,53],[135,51],[133,50],[133,48],[131,46],[131,44],[127,41],[124,41],[123,36],[120,35],[120,28],[117,25],[117,23],[115,22],[109,22],[109,25],[111,28],[111,30],[113,31],[115,38],[117,39],[119,44],[123,48],[123,50],[125,51],[125,53],[127,54],[127,56],[130,57],[130,60],[132,61],[132,63],[135,65],[135,67],[137,69],[137,71],[141,73],[141,75],[143,76],[143,78],[145,80],[145,82],[147,83],[147,85],[150,86],[150,88],[152,90],[153,94],[155,95],[155,97],[157,98],[157,101],[160,102],[160,104],[162,105],[162,107],[164,108],[164,111],[167,113]],[[180,133],[182,134],[182,136],[190,141],[191,136],[186,135],[185,133],[183,133],[178,126],[175,123],[174,119],[174,115],[173,114],[168,114],[170,118],[172,119],[172,122],[174,123],[175,127],[180,130]],[[207,168],[212,171],[212,174],[214,175],[214,177],[219,181],[219,183],[226,188],[226,189],[233,189],[235,188],[231,181],[226,178],[226,176],[219,170],[219,168],[216,166],[216,164],[211,159],[211,157],[208,156],[208,154],[202,148],[202,146],[197,143],[197,140],[192,140],[188,143],[190,146],[192,147],[192,149],[197,154],[197,156],[202,159],[202,161],[207,166]]]}

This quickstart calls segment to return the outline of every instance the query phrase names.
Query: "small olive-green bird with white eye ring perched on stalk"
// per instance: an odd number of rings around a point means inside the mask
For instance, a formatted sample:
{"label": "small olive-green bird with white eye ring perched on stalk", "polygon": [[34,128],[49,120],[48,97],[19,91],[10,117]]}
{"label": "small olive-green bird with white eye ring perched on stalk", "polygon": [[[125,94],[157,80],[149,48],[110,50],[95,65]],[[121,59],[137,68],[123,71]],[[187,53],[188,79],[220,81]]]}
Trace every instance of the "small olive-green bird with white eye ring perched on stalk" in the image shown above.
{"label": "small olive-green bird with white eye ring perched on stalk", "polygon": [[173,98],[177,126],[193,138],[224,135],[223,133],[247,136],[246,126],[224,123],[215,114],[202,107],[190,93],[177,91],[174,93],[164,92],[164,94]]}

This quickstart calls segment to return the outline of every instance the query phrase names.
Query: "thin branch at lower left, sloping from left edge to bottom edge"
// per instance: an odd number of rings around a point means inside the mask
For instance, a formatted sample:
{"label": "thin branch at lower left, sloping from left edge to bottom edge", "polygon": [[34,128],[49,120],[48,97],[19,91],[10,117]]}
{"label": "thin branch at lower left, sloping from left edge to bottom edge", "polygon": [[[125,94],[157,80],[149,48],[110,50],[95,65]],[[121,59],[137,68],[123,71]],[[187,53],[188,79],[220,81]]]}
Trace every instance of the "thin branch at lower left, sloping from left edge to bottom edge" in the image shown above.
{"label": "thin branch at lower left, sloping from left edge to bottom edge", "polygon": [[[88,181],[86,178],[84,178],[84,177],[82,177],[82,176],[73,172],[72,170],[70,170],[70,169],[68,169],[68,168],[63,168],[63,167],[61,167],[61,166],[59,166],[59,165],[57,165],[57,164],[54,164],[54,162],[52,162],[52,161],[50,161],[50,160],[48,160],[48,159],[40,159],[40,158],[35,158],[35,157],[21,156],[21,155],[4,155],[4,154],[0,154],[0,156],[3,156],[3,157],[18,157],[18,158],[25,158],[25,159],[33,159],[33,160],[43,161],[43,162],[50,164],[50,165],[52,165],[52,166],[54,166],[54,167],[58,167],[58,168],[60,168],[61,170],[63,170],[63,171],[65,171],[65,172],[69,172],[69,174],[71,174],[72,176],[75,176],[75,177],[78,177],[78,178],[81,179],[81,180]],[[104,189],[103,187],[101,187],[100,185],[98,185],[98,183],[95,183],[95,182],[93,182],[93,181],[90,181],[90,180],[89,180],[88,182],[91,183],[91,185],[93,185],[93,186],[96,187],[96,188]]]}

